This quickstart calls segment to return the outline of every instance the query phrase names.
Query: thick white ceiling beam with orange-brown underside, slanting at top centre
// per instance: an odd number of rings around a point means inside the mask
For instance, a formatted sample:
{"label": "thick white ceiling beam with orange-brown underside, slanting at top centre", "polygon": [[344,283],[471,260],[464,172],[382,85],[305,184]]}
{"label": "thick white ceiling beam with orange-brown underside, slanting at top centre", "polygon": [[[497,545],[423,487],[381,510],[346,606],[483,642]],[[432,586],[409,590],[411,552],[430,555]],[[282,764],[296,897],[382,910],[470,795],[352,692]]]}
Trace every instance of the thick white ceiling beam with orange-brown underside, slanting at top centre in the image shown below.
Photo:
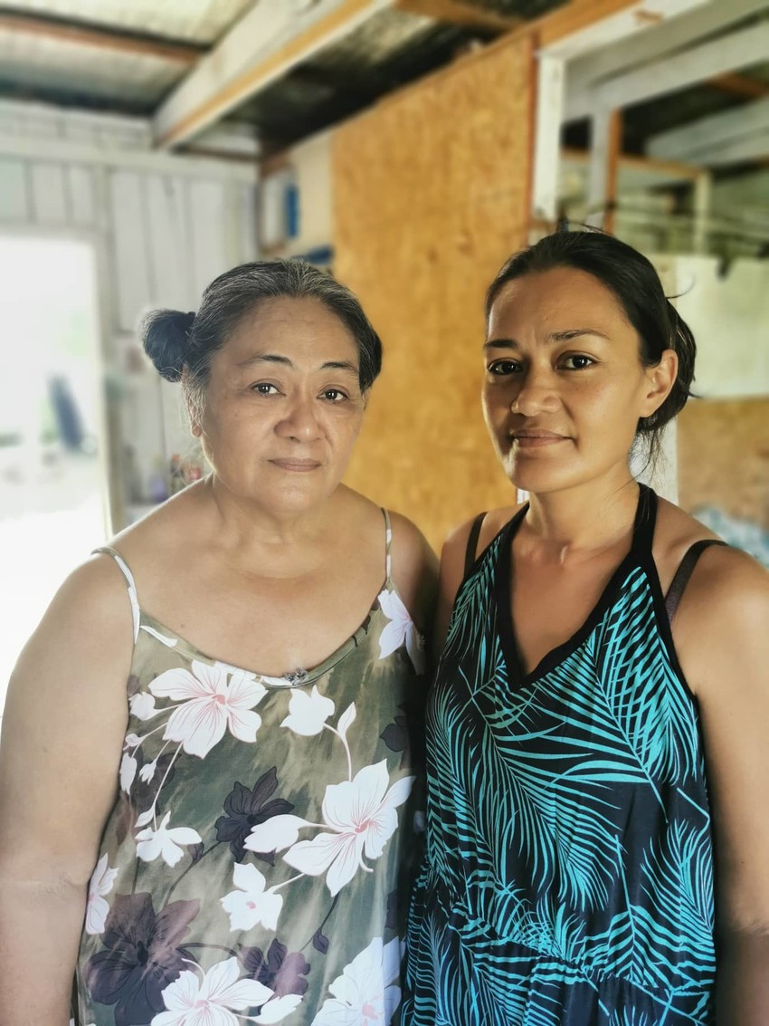
{"label": "thick white ceiling beam with orange-brown underside, slanting at top centre", "polygon": [[318,50],[343,38],[392,0],[257,3],[163,104],[153,121],[160,147],[178,146]]}

